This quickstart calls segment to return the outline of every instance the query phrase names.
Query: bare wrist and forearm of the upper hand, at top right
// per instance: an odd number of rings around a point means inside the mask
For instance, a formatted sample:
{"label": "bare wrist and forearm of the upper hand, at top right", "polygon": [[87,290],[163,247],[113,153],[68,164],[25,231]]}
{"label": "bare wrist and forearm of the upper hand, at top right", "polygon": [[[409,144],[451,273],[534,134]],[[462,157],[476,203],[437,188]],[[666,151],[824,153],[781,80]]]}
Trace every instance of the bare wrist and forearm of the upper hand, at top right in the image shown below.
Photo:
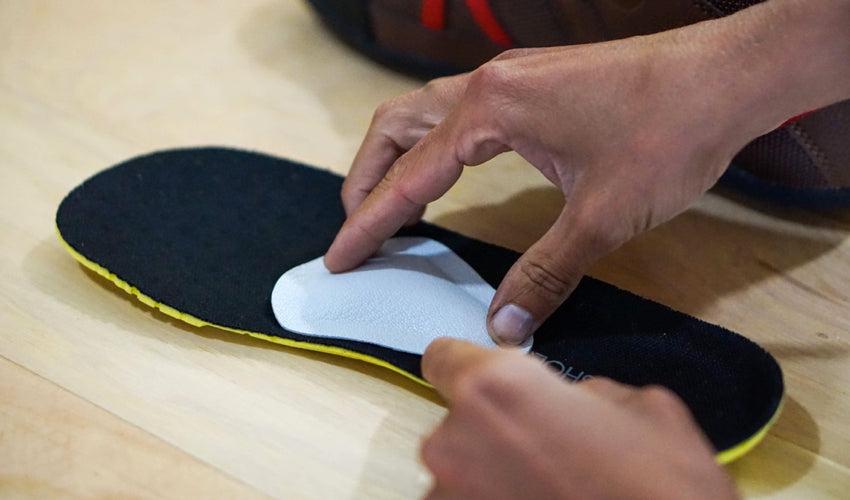
{"label": "bare wrist and forearm of the upper hand, at top right", "polygon": [[736,151],[850,98],[850,0],[769,0],[671,32],[706,113]]}

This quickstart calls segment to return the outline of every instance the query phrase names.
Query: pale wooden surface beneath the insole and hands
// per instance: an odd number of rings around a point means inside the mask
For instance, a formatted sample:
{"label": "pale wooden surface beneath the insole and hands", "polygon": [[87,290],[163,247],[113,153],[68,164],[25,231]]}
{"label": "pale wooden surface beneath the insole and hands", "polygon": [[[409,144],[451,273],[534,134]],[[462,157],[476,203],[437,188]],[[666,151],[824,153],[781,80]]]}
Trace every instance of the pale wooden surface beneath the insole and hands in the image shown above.
{"label": "pale wooden surface beneath the insole and hands", "polygon": [[[53,217],[94,172],[222,144],[344,173],[417,81],[295,0],[0,2],[0,496],[409,498],[445,409],[386,370],[179,324],[86,272]],[[560,207],[516,156],[427,218],[514,249]],[[756,340],[785,410],[729,467],[748,496],[850,494],[850,212],[710,193],[592,274]]]}

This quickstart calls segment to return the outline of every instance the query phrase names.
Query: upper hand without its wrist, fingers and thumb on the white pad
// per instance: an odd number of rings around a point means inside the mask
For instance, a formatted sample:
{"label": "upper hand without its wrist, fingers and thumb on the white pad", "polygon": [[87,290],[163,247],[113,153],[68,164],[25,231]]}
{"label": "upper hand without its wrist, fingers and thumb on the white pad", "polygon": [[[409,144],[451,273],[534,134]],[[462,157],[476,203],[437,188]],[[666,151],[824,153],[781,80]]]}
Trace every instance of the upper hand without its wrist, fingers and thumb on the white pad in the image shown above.
{"label": "upper hand without its wrist, fingers and thumb on the white pad", "polygon": [[687,207],[740,145],[721,137],[710,99],[670,98],[685,82],[660,44],[510,51],[382,105],[343,186],[349,219],[328,269],[358,265],[415,222],[463,165],[515,150],[567,199],[488,314],[495,340],[525,341],[595,259]]}

